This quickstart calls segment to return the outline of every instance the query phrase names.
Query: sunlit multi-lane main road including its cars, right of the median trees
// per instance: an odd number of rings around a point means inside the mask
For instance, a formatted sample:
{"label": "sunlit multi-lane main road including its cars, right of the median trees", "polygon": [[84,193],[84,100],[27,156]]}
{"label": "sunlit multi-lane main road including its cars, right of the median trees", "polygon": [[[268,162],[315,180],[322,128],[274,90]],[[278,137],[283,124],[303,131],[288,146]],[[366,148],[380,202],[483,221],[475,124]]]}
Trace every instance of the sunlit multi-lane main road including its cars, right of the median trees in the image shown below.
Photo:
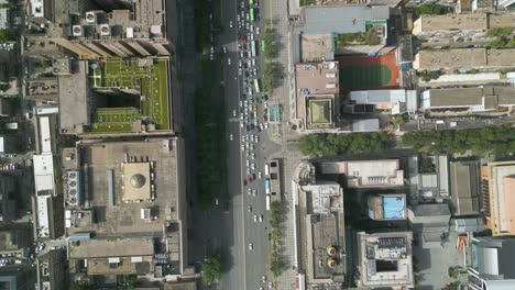
{"label": "sunlit multi-lane main road including its cars, right of the median trees", "polygon": [[[264,164],[266,155],[263,148],[272,147],[273,144],[271,144],[267,138],[265,131],[258,132],[256,129],[246,131],[246,126],[254,123],[252,104],[258,105],[258,112],[255,113],[259,120],[258,124],[263,122],[262,115],[264,113],[264,94],[263,92],[258,93],[253,88],[254,78],[259,78],[260,83],[262,83],[261,75],[263,71],[263,60],[261,59],[259,51],[260,36],[264,32],[264,26],[258,21],[248,21],[250,8],[254,8],[254,18],[258,20],[260,18],[258,13],[260,9],[256,2],[251,7],[249,0],[223,1],[221,19],[224,30],[218,37],[218,44],[227,48],[227,53],[223,56],[223,82],[226,115],[228,116],[229,191],[232,198],[231,213],[229,214],[232,215],[234,242],[230,248],[232,267],[223,276],[220,289],[244,290],[260,289],[261,287],[266,289],[269,285],[267,282],[263,283],[262,279],[263,277],[266,277],[266,280],[270,279],[267,277],[266,267],[269,257],[269,220],[265,208],[264,189],[264,180],[266,178],[264,175]],[[238,19],[240,19],[241,23],[238,22]],[[249,25],[246,25],[246,23],[249,23]],[[252,32],[248,30],[251,25],[253,26]],[[258,27],[261,31],[260,34],[256,33]],[[255,44],[255,57],[252,57],[249,36],[253,38]],[[246,47],[244,57],[241,58],[241,49],[239,48],[244,47]],[[231,59],[230,64],[229,59]],[[250,66],[248,65],[249,60],[251,60]],[[240,62],[242,63],[241,70]],[[254,62],[255,65],[253,65]],[[258,72],[256,76],[253,76],[252,71],[254,69]],[[253,91],[252,96],[249,96],[249,88]],[[246,114],[244,114],[245,100],[249,102]],[[243,102],[242,107],[240,105],[240,101]],[[241,126],[241,118],[244,120],[243,126]],[[255,136],[259,136],[259,142],[255,142]],[[254,142],[251,141],[252,138],[254,138]],[[249,146],[245,146],[245,143],[249,143]],[[242,146],[244,150],[242,150]],[[252,158],[252,155],[254,155],[254,158]],[[254,164],[254,170],[252,170],[252,164]],[[248,169],[250,170],[252,181],[248,181],[248,185],[244,186],[243,180],[249,179]],[[261,179],[259,178],[259,172],[261,172]],[[253,193],[254,191],[255,193]],[[258,219],[256,221],[254,221],[254,215]],[[260,222],[261,215],[263,215],[262,222]],[[251,244],[252,249],[250,249]]]}

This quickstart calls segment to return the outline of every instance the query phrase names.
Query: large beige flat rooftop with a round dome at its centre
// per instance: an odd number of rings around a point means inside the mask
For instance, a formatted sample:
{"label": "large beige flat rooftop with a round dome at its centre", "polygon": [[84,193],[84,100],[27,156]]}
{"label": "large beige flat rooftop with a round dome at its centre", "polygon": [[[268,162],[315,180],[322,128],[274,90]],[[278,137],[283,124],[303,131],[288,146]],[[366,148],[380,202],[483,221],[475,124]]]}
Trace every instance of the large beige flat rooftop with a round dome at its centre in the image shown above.
{"label": "large beige flat rooftop with a round dome at its centre", "polygon": [[[169,138],[80,144],[80,167],[88,167],[88,177],[81,177],[89,180],[86,202],[94,211],[96,223],[68,228],[68,233],[147,236],[162,233],[166,221],[180,219],[177,144]],[[134,175],[143,178],[132,178]],[[150,209],[155,219],[142,219],[142,209]]]}

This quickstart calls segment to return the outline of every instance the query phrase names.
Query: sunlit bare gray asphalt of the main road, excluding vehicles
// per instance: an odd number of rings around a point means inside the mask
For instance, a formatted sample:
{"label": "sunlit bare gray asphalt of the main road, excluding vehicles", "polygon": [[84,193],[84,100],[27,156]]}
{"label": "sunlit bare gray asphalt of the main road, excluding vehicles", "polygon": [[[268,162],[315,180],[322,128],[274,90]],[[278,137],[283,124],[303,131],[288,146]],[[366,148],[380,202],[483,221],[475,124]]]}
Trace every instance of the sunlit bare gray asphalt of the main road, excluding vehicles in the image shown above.
{"label": "sunlit bare gray asphalt of the main road, excluding vehicles", "polygon": [[[245,7],[249,1],[245,0]],[[248,187],[243,186],[243,179],[246,176],[245,155],[241,152],[241,135],[245,132],[240,130],[240,107],[241,91],[243,90],[242,77],[240,76],[234,80],[234,75],[238,74],[238,64],[240,54],[238,51],[238,22],[237,13],[239,13],[240,1],[223,1],[222,3],[222,25],[223,33],[219,36],[219,42],[227,46],[228,54],[224,58],[224,83],[226,83],[226,115],[229,118],[227,125],[227,133],[233,135],[233,141],[228,143],[228,160],[229,160],[229,191],[232,196],[232,226],[233,226],[233,244],[230,247],[230,253],[233,257],[233,266],[227,275],[223,276],[220,289],[259,289],[263,287],[261,279],[266,276],[266,260],[267,252],[267,232],[269,224],[267,212],[265,209],[265,190],[264,190],[264,175],[263,179],[253,181]],[[229,27],[229,22],[232,21],[233,27]],[[254,27],[259,22],[254,22]],[[261,25],[260,25],[261,26]],[[261,26],[261,31],[263,27]],[[254,36],[258,36],[254,34]],[[258,37],[255,38],[258,41]],[[256,51],[260,45],[256,42]],[[258,75],[261,74],[261,62],[258,54],[256,67]],[[231,58],[231,65],[228,64],[228,58]],[[244,59],[243,62],[246,62]],[[254,94],[255,96],[255,94]],[[262,96],[262,94],[261,94]],[[260,105],[258,118],[263,114],[262,107]],[[237,118],[233,118],[233,110],[237,111]],[[263,132],[264,133],[264,132]],[[255,175],[259,171],[264,174],[264,158],[262,155],[261,146],[267,144],[266,134],[259,134],[261,142],[255,144]],[[258,134],[253,131],[252,134]],[[229,137],[229,136],[228,136]],[[250,158],[249,158],[250,159]],[[256,197],[246,193],[248,188],[255,189]],[[252,212],[249,212],[248,207],[252,207]],[[263,214],[264,220],[262,223],[254,222],[254,215]],[[249,249],[249,244],[253,244],[253,249]]]}

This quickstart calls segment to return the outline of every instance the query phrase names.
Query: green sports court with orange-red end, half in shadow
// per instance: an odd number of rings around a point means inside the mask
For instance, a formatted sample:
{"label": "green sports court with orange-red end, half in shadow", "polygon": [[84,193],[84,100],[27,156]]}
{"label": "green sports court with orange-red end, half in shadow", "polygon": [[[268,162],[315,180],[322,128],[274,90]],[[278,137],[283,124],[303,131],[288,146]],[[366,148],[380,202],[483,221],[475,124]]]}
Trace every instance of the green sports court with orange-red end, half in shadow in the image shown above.
{"label": "green sports court with orange-red end, half in shadow", "polygon": [[340,83],[346,90],[398,88],[399,68],[394,53],[381,56],[349,56],[340,62]]}

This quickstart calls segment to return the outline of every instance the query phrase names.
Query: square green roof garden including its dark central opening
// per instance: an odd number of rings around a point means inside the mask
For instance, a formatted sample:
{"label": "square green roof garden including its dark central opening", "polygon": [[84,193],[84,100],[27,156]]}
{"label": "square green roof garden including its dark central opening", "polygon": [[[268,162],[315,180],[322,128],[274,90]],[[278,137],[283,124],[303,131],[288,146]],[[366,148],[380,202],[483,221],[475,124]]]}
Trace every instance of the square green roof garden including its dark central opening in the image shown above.
{"label": "square green roof garden including its dark central opening", "polygon": [[113,103],[98,105],[92,132],[140,132],[142,120],[156,130],[171,129],[166,58],[105,60],[89,66],[95,67],[89,70],[89,83],[101,93],[97,99],[101,103],[109,96]]}

